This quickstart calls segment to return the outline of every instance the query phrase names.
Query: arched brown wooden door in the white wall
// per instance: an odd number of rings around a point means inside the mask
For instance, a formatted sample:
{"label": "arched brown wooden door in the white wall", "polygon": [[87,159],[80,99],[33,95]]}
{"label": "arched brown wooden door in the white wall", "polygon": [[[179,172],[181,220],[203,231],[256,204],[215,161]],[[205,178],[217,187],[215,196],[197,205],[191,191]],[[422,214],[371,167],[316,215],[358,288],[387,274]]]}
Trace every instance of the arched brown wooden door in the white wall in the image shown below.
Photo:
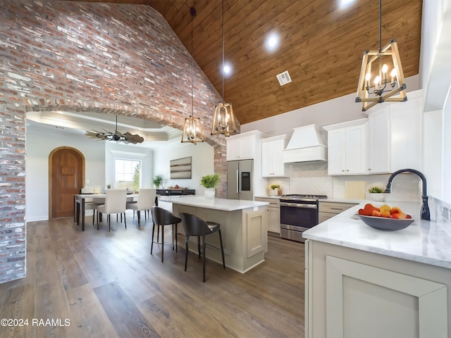
{"label": "arched brown wooden door in the white wall", "polygon": [[80,151],[61,147],[49,156],[49,218],[73,215],[73,196],[80,193],[85,158]]}

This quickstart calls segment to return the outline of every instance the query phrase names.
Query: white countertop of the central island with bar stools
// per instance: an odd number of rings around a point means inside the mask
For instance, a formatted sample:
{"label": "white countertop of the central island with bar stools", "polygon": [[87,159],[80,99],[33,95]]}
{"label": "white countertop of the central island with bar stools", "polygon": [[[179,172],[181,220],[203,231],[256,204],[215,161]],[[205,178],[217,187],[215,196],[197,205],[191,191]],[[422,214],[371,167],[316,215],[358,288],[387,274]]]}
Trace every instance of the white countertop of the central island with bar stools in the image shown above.
{"label": "white countertop of the central island with bar stools", "polygon": [[183,206],[197,206],[198,208],[216,209],[223,211],[235,211],[247,208],[267,206],[268,202],[244,201],[238,199],[207,199],[204,196],[159,196],[159,201],[180,204]]}

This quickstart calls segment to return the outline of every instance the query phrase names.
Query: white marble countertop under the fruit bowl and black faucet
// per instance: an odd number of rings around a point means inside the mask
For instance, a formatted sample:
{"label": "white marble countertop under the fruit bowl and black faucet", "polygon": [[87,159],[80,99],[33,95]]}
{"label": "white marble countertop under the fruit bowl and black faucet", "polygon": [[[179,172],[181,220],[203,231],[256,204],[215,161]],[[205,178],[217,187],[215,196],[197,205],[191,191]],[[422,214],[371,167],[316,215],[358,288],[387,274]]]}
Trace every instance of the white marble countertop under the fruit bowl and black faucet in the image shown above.
{"label": "white marble countertop under the fruit bowl and black faucet", "polygon": [[[390,202],[390,206],[399,206],[404,213],[412,215],[414,223],[403,230],[393,232],[376,230],[354,216],[359,208],[363,208],[364,204],[365,202],[353,206],[316,225],[303,232],[302,237],[451,268],[451,229],[449,224],[442,220],[420,220],[421,205],[419,203]],[[371,204],[382,206],[384,203],[372,202]]]}

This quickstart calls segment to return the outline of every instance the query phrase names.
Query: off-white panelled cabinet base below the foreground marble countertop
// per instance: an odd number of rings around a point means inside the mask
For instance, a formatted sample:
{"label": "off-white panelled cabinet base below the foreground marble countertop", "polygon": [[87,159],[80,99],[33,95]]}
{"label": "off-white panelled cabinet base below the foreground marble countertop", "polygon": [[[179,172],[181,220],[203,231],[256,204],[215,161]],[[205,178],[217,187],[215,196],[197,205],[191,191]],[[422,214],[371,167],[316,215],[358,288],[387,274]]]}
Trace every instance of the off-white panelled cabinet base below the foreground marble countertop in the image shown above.
{"label": "off-white panelled cabinet base below the foreground marble countertop", "polygon": [[306,338],[450,337],[450,269],[311,239],[305,251]]}

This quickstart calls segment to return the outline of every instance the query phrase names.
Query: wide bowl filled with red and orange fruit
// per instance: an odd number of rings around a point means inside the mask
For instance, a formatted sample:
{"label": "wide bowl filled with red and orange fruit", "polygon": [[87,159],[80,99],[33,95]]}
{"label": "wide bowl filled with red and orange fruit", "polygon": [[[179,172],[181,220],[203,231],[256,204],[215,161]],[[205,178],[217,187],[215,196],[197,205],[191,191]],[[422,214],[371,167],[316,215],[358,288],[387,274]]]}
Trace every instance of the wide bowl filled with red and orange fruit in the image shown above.
{"label": "wide bowl filled with red and orange fruit", "polygon": [[359,209],[359,218],[370,227],[386,231],[401,230],[414,222],[411,215],[402,212],[397,206],[391,208],[387,204],[380,208],[366,204]]}

